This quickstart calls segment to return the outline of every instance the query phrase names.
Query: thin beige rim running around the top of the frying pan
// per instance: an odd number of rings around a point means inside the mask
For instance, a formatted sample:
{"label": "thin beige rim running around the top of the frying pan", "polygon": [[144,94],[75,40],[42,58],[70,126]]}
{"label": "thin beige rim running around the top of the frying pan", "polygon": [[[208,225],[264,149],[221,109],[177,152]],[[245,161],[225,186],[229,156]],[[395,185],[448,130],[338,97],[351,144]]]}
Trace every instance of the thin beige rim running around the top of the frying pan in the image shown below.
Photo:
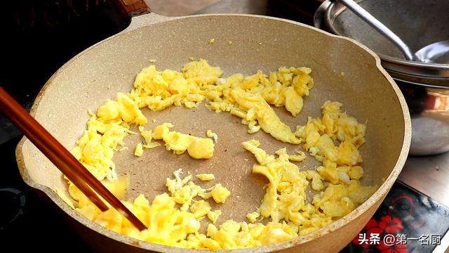
{"label": "thin beige rim running around the top of the frying pan", "polygon": [[[168,17],[163,17],[163,16],[160,16],[160,15],[156,15],[154,13],[150,13],[150,14],[147,14],[147,15],[141,15],[139,17],[133,18],[133,20],[134,19],[140,19],[140,18],[154,19],[154,18],[159,17],[159,18],[161,18],[161,21],[160,22],[157,22],[157,21],[154,22],[154,24],[156,24],[156,23],[159,24],[161,22],[170,22],[170,21],[173,21],[173,20],[180,20],[180,19],[184,19],[184,18],[191,18],[192,19],[192,18],[201,18],[201,17],[208,17],[208,16],[209,17],[243,16],[243,17],[248,17],[248,18],[262,18],[262,19],[267,19],[267,20],[277,20],[277,21],[282,21],[282,22],[288,22],[288,23],[293,24],[293,25],[299,25],[301,27],[304,27],[304,28],[307,28],[307,29],[311,29],[311,30],[314,30],[314,31],[322,33],[322,34],[326,34],[328,37],[331,37],[332,39],[337,39],[337,40],[343,39],[344,41],[349,41],[349,43],[356,44],[356,46],[358,46],[359,48],[362,48],[362,50],[370,53],[370,55],[373,56],[373,58],[375,60],[375,65],[377,67],[377,70],[379,70],[384,75],[384,77],[387,79],[387,81],[391,85],[391,88],[394,90],[394,93],[396,93],[396,98],[398,99],[398,102],[401,105],[401,110],[402,110],[403,119],[404,119],[404,136],[403,136],[403,143],[401,145],[401,153],[399,153],[399,155],[398,155],[398,159],[396,160],[396,164],[394,165],[394,168],[392,169],[392,171],[389,174],[389,176],[387,177],[387,179],[385,179],[384,183],[382,183],[382,185],[380,185],[380,187],[377,188],[375,193],[373,193],[373,195],[371,195],[368,198],[368,200],[366,200],[361,205],[359,205],[351,213],[347,214],[346,216],[343,216],[342,218],[338,219],[337,221],[334,221],[333,223],[330,223],[328,226],[326,226],[324,228],[321,228],[321,229],[319,229],[317,231],[314,231],[312,233],[309,233],[307,235],[298,236],[297,238],[293,238],[293,239],[286,240],[286,241],[283,241],[283,242],[276,242],[276,243],[270,244],[270,245],[263,245],[263,246],[260,246],[260,247],[250,247],[250,248],[243,248],[243,249],[228,249],[228,250],[220,250],[218,252],[248,252],[248,250],[250,252],[272,252],[272,251],[278,251],[278,250],[281,250],[281,249],[287,249],[287,248],[290,248],[290,247],[295,247],[297,245],[301,245],[301,244],[304,244],[306,242],[310,242],[311,240],[314,240],[316,238],[320,238],[322,235],[326,235],[327,233],[331,233],[333,231],[337,231],[339,228],[342,228],[343,226],[347,225],[347,223],[358,219],[361,216],[361,214],[365,213],[366,211],[368,211],[368,209],[370,209],[373,206],[375,206],[377,202],[380,204],[380,202],[383,200],[383,198],[389,192],[389,189],[393,186],[394,181],[397,179],[399,173],[401,172],[401,169],[402,169],[403,165],[406,162],[407,155],[408,155],[408,150],[410,148],[410,140],[411,140],[411,120],[410,120],[410,114],[408,112],[408,108],[407,108],[407,105],[406,105],[406,100],[403,97],[401,91],[399,90],[399,88],[396,85],[396,83],[394,82],[394,80],[387,73],[387,71],[384,70],[384,68],[382,67],[379,56],[377,56],[369,48],[367,48],[366,46],[363,46],[363,44],[360,44],[358,41],[355,41],[354,39],[350,39],[350,38],[347,38],[347,37],[342,37],[342,36],[339,36],[339,35],[331,34],[329,32],[325,32],[323,30],[319,30],[316,27],[313,27],[313,26],[310,26],[310,25],[304,25],[304,24],[302,24],[300,22],[295,22],[293,20],[286,20],[286,19],[283,19],[283,18],[274,18],[274,17],[264,16],[264,15],[201,14],[201,15],[191,15],[191,16],[182,16],[182,17],[168,18]],[[105,41],[109,41],[109,39],[114,39],[116,37],[123,36],[124,34],[128,34],[130,32],[135,32],[136,30],[142,29],[143,27],[148,27],[150,25],[153,25],[153,24],[150,23],[150,24],[147,24],[147,25],[144,24],[144,25],[140,25],[140,26],[128,27],[129,29],[127,28],[126,30],[123,30],[122,32],[119,32],[118,34],[114,34],[112,37],[108,37],[107,39],[104,39],[104,40],[94,44],[93,46],[90,46],[90,47],[86,48],[85,50],[81,51],[81,53],[78,53],[76,56],[74,56],[74,58],[72,58],[69,61],[67,61],[67,63],[62,65],[62,67],[60,67],[51,76],[51,78],[48,79],[48,81],[43,86],[41,91],[39,91],[39,94],[38,94],[38,96],[36,96],[36,100],[34,100],[34,103],[32,105],[32,109],[30,111],[30,114],[32,116],[35,115],[36,108],[38,108],[43,94],[46,92],[46,89],[48,88],[48,86],[51,85],[51,83],[53,82],[53,79],[55,79],[55,77],[57,77],[58,74],[60,72],[62,72],[62,70],[65,70],[65,68],[68,67],[69,65],[71,65],[72,62],[74,62],[77,58],[82,56],[87,51],[92,50],[93,48],[95,48],[99,44],[102,44]],[[71,216],[74,220],[76,220],[79,223],[81,223],[83,226],[86,226],[89,229],[91,229],[91,230],[93,230],[93,231],[95,231],[97,233],[101,233],[102,235],[106,235],[108,238],[111,238],[112,240],[116,240],[116,241],[125,243],[125,244],[127,244],[129,246],[133,246],[133,247],[137,247],[137,245],[138,245],[138,247],[140,247],[142,249],[156,250],[156,251],[161,251],[161,252],[205,252],[205,250],[200,250],[200,249],[185,249],[185,248],[172,247],[172,246],[167,246],[167,245],[159,245],[159,244],[152,243],[152,242],[144,242],[144,241],[140,241],[140,240],[137,240],[137,239],[134,239],[134,238],[129,238],[129,237],[125,236],[125,235],[121,235],[119,233],[115,233],[114,231],[110,231],[109,229],[104,228],[104,227],[100,226],[99,224],[88,220],[86,217],[84,217],[81,214],[79,214],[79,212],[76,212],[76,210],[74,210],[71,207],[69,207],[69,205],[67,205],[67,203],[64,202],[55,193],[54,190],[52,190],[48,186],[43,186],[43,185],[41,185],[39,183],[36,183],[35,181],[33,181],[31,179],[31,176],[29,176],[27,168],[25,167],[25,161],[24,161],[24,157],[23,157],[23,153],[22,153],[23,145],[25,145],[27,142],[29,142],[29,140],[27,140],[27,138],[24,136],[20,140],[20,142],[18,143],[18,145],[16,147],[16,150],[15,150],[16,160],[18,162],[18,167],[19,167],[20,175],[22,176],[22,179],[25,181],[25,183],[27,183],[32,188],[36,188],[38,190],[43,191],[43,193],[45,193],[56,205],[58,205],[58,207],[60,209],[62,209],[66,214],[69,214],[69,216]]]}

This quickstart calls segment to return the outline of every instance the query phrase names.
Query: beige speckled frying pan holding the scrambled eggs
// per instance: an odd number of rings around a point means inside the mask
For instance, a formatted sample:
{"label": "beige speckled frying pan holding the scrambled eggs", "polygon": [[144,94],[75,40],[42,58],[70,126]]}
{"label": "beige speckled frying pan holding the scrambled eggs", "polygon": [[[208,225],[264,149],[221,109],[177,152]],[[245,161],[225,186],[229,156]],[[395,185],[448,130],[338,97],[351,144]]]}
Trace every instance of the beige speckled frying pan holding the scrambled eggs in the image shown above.
{"label": "beige speckled frying pan holding the scrambled eggs", "polygon": [[[133,3],[142,6],[141,1]],[[123,6],[135,13],[147,10],[144,7],[136,11],[133,4]],[[209,44],[212,38],[215,43]],[[314,233],[229,252],[337,252],[347,245],[387,195],[410,146],[410,115],[398,86],[381,67],[375,53],[356,41],[298,22],[259,15],[167,18],[149,13],[133,18],[126,30],[87,48],[63,65],[43,86],[31,113],[62,145],[73,148],[86,128],[87,109],[95,111],[107,98],[114,98],[117,91],[130,91],[135,74],[149,65],[149,59],[156,60],[158,70],[179,70],[189,57],[204,58],[211,65],[222,67],[225,76],[236,72],[251,74],[259,69],[268,72],[280,66],[311,67],[315,86],[304,99],[300,115],[291,117],[285,109],[276,108],[281,120],[292,129],[304,125],[307,116],[321,116],[320,107],[326,100],[342,102],[344,110],[360,122],[368,120],[366,144],[360,150],[366,171],[362,183],[380,187],[366,202]],[[127,197],[133,199],[138,193],[145,193],[151,200],[166,191],[165,179],[178,168],[192,174],[213,173],[215,182],[227,186],[232,193],[225,204],[213,206],[223,212],[218,224],[227,219],[244,221],[264,195],[262,186],[267,181],[251,174],[255,159],[241,148],[242,141],[256,138],[268,153],[283,147],[301,149],[276,141],[263,131],[249,135],[239,118],[212,112],[204,103],[193,110],[170,107],[161,112],[143,112],[147,118],[156,119],[154,123],[149,120],[147,129],[170,122],[176,131],[204,137],[206,130],[211,129],[219,138],[212,159],[193,160],[186,154],[173,155],[165,148],[147,150],[142,157],[134,157],[133,147],[139,137],[126,137],[130,148],[116,152],[114,162],[118,174],[130,176]],[[24,181],[58,206],[96,251],[203,252],[142,242],[88,221],[55,193],[55,187],[67,189],[62,174],[27,138],[18,144],[16,157]],[[313,157],[298,163],[300,169],[316,165]]]}

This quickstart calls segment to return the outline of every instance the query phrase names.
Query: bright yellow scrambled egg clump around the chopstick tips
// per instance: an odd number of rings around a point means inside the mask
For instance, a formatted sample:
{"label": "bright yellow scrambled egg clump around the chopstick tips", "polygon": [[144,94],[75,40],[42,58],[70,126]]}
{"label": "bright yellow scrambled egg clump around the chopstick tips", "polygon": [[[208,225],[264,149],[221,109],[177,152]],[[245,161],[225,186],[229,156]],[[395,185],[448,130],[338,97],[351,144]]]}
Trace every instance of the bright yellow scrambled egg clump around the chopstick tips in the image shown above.
{"label": "bright yellow scrambled egg clump around the chopstick tips", "polygon": [[[180,178],[178,169],[173,174],[175,179],[167,179],[168,193],[154,197],[151,205],[144,195],[139,195],[133,202],[124,201],[131,212],[148,226],[145,231],[138,231],[128,220],[123,219],[115,209],[101,212],[76,186],[70,184],[69,193],[78,202],[76,210],[88,219],[99,223],[117,233],[130,237],[177,247],[202,248],[206,235],[200,234],[200,222],[206,216],[215,223],[221,211],[212,210],[205,200],[194,200],[194,197],[206,199],[213,197],[216,202],[225,202],[229,190],[220,184],[211,189],[203,189],[191,181],[192,175]],[[105,186],[117,195],[123,197],[128,179],[119,179],[115,183],[105,183]],[[64,195],[62,195],[64,196]],[[65,197],[65,200],[74,204]],[[177,208],[176,205],[181,205]]]}

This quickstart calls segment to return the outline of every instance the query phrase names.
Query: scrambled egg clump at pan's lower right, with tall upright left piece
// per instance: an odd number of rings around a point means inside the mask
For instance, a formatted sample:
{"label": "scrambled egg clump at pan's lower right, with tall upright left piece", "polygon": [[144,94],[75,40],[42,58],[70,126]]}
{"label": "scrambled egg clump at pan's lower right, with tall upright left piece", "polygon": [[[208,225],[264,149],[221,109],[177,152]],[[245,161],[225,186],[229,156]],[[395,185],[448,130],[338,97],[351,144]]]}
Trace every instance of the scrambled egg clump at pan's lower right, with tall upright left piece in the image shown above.
{"label": "scrambled egg clump at pan's lower right, with tall upright left piece", "polygon": [[[258,162],[253,166],[253,173],[262,174],[269,180],[262,204],[256,212],[247,215],[250,222],[264,218],[285,221],[297,235],[306,235],[349,214],[377,188],[361,186],[357,179],[333,184],[314,170],[300,171],[289,162],[286,148],[277,150],[278,157],[274,157],[259,148],[259,141],[250,140],[242,145]],[[311,203],[306,202],[309,181],[314,190],[326,188],[323,193],[314,195]]]}

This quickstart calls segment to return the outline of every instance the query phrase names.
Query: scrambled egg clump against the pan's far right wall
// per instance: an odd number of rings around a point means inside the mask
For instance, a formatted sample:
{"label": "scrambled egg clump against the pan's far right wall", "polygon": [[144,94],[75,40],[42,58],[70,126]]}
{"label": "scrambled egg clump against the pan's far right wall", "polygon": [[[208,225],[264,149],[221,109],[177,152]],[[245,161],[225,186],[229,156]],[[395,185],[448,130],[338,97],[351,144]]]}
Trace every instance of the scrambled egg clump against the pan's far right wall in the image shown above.
{"label": "scrambled egg clump against the pan's far right wall", "polygon": [[[310,155],[323,162],[317,171],[330,183],[350,183],[363,175],[363,168],[358,166],[362,162],[358,147],[365,143],[366,124],[349,117],[341,107],[341,103],[326,101],[321,107],[321,119],[309,118],[305,126],[298,126],[295,131]],[[335,141],[340,141],[340,145],[336,146]]]}

